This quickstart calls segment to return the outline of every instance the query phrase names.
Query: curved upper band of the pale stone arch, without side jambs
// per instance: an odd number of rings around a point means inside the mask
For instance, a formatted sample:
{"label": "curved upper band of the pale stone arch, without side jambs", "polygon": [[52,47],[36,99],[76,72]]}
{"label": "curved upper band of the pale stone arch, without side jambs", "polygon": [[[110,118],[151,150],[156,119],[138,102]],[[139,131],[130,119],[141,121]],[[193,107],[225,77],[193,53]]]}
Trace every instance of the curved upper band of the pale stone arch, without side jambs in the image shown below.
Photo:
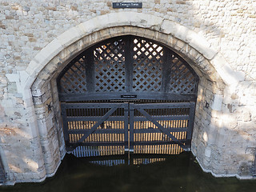
{"label": "curved upper band of the pale stone arch, without side jambs", "polygon": [[[122,29],[117,29],[117,26],[122,26]],[[126,26],[138,27],[141,30],[136,32],[132,30],[129,31],[126,29]],[[104,32],[100,32],[103,30]],[[106,33],[105,30],[108,30],[108,35],[104,34]],[[151,31],[150,34],[146,34],[146,32],[149,31]],[[158,33],[154,34],[152,31]],[[107,36],[114,37],[134,33],[142,37],[156,38],[155,40],[158,41],[162,39],[163,42],[170,40],[168,44],[174,46],[176,49],[178,48],[178,50],[182,50],[184,54],[193,54],[193,50],[187,50],[188,47],[197,50],[198,54],[201,54],[210,62],[210,65],[214,67],[223,82],[227,85],[234,84],[241,78],[242,74],[235,75],[236,72],[231,69],[230,65],[218,51],[211,48],[210,43],[207,42],[205,38],[185,26],[150,14],[120,12],[92,18],[87,22],[72,27],[70,30],[66,30],[66,32],[55,38],[43,48],[30,62],[29,66],[27,66],[26,73],[29,74],[30,77],[25,81],[25,88],[32,85],[38,73],[50,63],[51,59],[65,51],[67,47],[72,46],[74,42],[81,42],[81,40],[84,40],[89,34],[96,34],[90,36],[90,42],[99,42],[106,39]],[[167,41],[166,38],[161,37],[164,35],[168,36]],[[81,48],[86,48],[86,46],[89,45],[81,45]],[[196,55],[194,55],[194,58],[195,57]]]}

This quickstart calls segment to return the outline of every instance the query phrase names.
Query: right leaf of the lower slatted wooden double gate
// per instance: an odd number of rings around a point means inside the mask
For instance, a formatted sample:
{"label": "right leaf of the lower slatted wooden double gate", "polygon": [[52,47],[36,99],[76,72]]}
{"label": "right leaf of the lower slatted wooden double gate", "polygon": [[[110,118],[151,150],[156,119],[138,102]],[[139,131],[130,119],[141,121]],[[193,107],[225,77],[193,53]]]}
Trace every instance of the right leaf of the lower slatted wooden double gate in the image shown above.
{"label": "right leaf of the lower slatted wooden double gate", "polygon": [[190,150],[194,102],[130,104],[130,149],[136,154]]}

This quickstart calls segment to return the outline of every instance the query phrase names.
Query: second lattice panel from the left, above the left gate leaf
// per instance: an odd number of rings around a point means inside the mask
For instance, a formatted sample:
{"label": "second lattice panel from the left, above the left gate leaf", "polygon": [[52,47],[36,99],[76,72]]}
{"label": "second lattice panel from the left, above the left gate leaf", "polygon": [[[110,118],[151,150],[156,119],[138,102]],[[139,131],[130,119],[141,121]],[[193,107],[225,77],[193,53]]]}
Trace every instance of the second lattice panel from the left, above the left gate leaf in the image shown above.
{"label": "second lattice panel from the left, above the left gate leaf", "polygon": [[125,90],[124,46],[121,38],[94,50],[95,92]]}

